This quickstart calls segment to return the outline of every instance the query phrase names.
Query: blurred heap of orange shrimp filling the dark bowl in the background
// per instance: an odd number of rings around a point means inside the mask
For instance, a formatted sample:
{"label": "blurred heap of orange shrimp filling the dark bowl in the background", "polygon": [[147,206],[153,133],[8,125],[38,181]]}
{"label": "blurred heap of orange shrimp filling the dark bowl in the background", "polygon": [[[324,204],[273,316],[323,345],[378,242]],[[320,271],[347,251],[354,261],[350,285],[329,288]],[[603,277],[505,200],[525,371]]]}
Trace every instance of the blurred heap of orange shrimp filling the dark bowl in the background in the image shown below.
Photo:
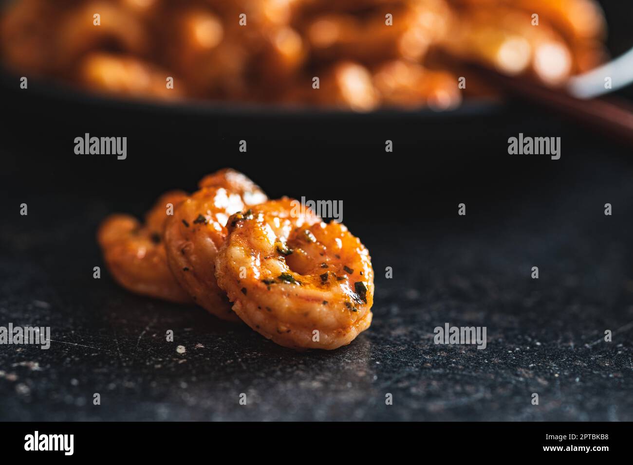
{"label": "blurred heap of orange shrimp filling the dark bowl in the background", "polygon": [[20,0],[0,50],[123,97],[450,109],[495,93],[460,87],[463,63],[559,85],[605,61],[605,32],[596,0]]}

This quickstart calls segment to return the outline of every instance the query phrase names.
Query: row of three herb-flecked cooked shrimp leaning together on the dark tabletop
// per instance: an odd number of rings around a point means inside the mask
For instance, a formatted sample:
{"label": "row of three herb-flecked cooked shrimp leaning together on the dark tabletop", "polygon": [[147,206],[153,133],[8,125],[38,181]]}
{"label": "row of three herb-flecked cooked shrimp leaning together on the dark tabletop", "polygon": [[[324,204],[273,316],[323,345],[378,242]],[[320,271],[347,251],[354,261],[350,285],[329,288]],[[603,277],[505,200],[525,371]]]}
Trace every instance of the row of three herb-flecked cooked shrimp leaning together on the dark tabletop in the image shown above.
{"label": "row of three herb-flecked cooked shrimp leaning together on the dark tabletop", "polygon": [[163,194],[146,215],[112,215],[97,239],[115,280],[137,294],[195,302],[292,349],[337,349],[372,323],[369,252],[341,223],[266,194],[242,173]]}

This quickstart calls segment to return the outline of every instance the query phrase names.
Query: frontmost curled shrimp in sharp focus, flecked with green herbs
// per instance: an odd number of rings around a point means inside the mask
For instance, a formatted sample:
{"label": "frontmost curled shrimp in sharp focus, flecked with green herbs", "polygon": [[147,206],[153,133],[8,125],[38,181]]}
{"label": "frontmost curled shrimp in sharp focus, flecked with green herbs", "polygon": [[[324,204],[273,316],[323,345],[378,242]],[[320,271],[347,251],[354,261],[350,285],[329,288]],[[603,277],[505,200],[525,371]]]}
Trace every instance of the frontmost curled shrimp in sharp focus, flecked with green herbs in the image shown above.
{"label": "frontmost curled shrimp in sharp focus, flecked with green herbs", "polygon": [[218,285],[235,313],[277,344],[337,349],[372,322],[371,258],[345,226],[298,205],[284,197],[232,216]]}

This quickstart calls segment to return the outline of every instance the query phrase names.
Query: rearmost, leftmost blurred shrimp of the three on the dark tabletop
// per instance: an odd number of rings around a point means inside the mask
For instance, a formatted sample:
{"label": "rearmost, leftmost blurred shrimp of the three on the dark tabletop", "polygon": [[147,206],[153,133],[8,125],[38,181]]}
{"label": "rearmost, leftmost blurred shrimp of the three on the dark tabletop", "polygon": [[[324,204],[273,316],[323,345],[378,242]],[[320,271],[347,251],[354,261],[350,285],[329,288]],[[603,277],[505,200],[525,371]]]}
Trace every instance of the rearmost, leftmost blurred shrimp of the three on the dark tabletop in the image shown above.
{"label": "rearmost, leftmost blurred shrimp of the three on the dark tabletop", "polygon": [[167,265],[162,237],[167,204],[175,206],[186,197],[185,192],[177,190],[161,195],[147,213],[144,225],[126,214],[113,214],[101,223],[97,240],[116,282],[136,294],[191,302]]}

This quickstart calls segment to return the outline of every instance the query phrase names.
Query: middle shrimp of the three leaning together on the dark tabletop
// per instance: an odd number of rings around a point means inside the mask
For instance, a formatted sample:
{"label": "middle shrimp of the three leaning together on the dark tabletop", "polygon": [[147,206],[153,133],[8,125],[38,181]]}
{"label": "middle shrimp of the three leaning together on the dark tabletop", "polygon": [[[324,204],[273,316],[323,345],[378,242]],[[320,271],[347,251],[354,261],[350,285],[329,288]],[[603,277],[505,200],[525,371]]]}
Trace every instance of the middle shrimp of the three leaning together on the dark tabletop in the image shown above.
{"label": "middle shrimp of the three leaning together on the dark tabletop", "polygon": [[227,236],[229,216],[266,201],[249,178],[233,170],[205,177],[166,224],[167,259],[173,276],[194,302],[222,319],[239,321],[215,278],[215,256]]}

